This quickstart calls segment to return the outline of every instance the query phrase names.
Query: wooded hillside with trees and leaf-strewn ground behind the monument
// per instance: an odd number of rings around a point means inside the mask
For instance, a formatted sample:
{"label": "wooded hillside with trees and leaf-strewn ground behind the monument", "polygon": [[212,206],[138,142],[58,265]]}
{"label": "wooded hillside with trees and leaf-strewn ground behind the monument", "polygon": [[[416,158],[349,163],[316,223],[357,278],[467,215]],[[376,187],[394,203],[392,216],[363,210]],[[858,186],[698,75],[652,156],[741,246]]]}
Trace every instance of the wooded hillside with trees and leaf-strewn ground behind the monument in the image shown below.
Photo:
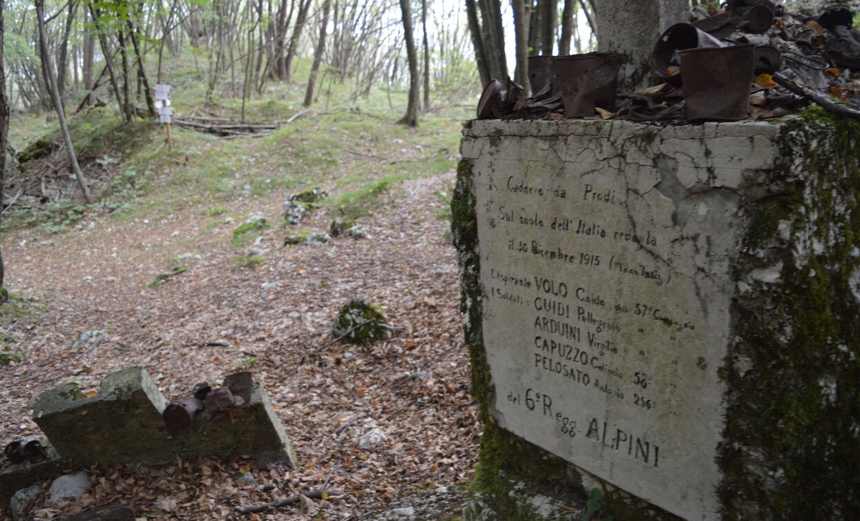
{"label": "wooded hillside with trees and leaf-strewn ground behind the monument", "polygon": [[[481,428],[446,225],[460,126],[490,79],[528,84],[529,55],[593,51],[600,4],[0,0],[0,441],[35,435],[28,403],[58,383],[92,394],[143,365],[171,398],[250,369],[300,469],[94,468],[83,506],[229,518],[337,488],[298,518],[362,518],[462,493]],[[169,145],[157,83],[174,89]],[[312,187],[328,197],[286,224],[284,201]],[[335,220],[368,238],[284,246]],[[359,293],[395,338],[333,342]],[[375,428],[388,441],[359,450]],[[42,500],[34,518],[81,508]]]}

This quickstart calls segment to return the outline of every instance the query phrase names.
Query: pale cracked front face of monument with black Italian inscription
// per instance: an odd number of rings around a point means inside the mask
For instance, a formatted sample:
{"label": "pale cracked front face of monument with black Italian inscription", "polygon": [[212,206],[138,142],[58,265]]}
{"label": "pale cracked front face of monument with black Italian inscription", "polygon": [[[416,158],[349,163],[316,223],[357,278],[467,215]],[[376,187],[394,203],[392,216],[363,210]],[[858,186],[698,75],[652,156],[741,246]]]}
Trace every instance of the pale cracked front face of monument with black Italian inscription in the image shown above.
{"label": "pale cracked front face of monument with black Italian inscription", "polygon": [[[464,139],[494,416],[669,512],[717,518],[734,185],[765,167],[767,139],[600,121],[517,135],[527,125]],[[685,164],[703,146],[721,169]]]}

